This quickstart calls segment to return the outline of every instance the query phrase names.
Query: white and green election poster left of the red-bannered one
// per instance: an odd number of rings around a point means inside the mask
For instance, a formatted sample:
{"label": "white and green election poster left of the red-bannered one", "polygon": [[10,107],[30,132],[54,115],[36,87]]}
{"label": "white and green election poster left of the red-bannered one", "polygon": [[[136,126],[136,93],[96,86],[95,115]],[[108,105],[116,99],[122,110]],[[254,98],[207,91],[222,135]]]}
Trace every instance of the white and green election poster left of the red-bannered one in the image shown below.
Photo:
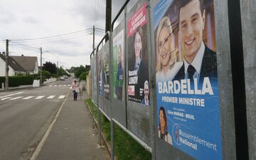
{"label": "white and green election poster left of the red-bannered one", "polygon": [[114,98],[124,100],[124,29],[113,38]]}

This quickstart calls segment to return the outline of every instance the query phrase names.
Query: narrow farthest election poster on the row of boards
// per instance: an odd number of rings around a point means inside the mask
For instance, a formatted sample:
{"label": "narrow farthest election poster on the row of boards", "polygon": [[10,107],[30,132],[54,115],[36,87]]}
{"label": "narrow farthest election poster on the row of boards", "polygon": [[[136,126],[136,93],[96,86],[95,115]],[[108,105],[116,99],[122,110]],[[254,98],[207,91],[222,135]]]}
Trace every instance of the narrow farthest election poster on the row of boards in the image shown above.
{"label": "narrow farthest election poster on the row of boards", "polygon": [[99,95],[102,95],[102,50],[99,50],[97,53],[97,77],[98,77],[98,88],[99,88]]}

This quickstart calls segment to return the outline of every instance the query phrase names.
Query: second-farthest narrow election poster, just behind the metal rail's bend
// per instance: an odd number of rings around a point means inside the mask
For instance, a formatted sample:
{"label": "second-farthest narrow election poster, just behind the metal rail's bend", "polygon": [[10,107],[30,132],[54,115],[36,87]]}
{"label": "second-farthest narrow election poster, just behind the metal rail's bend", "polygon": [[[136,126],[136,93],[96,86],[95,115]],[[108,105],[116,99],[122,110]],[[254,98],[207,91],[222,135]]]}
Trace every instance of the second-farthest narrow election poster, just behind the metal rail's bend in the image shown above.
{"label": "second-farthest narrow election poster, just behind the metal rail's bend", "polygon": [[104,88],[104,97],[110,100],[110,51],[109,43],[103,46],[102,57],[103,57],[103,73],[102,73],[102,83]]}

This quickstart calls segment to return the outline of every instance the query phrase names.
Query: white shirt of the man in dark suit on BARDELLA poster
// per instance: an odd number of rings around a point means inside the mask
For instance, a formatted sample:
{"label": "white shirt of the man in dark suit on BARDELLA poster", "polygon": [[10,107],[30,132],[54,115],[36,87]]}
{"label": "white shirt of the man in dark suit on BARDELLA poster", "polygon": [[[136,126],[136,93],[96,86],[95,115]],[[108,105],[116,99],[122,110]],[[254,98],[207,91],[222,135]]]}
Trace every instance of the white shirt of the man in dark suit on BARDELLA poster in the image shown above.
{"label": "white shirt of the man in dark suit on BARDELLA poster", "polygon": [[203,54],[206,46],[201,43],[201,47],[198,50],[198,53],[196,53],[196,57],[193,59],[192,63],[188,63],[186,59],[184,60],[184,67],[185,67],[185,78],[188,79],[188,65],[192,65],[193,68],[196,69],[196,72],[193,74],[193,78],[196,78],[197,81],[199,81],[200,78],[200,72],[201,72],[201,66],[203,62]]}

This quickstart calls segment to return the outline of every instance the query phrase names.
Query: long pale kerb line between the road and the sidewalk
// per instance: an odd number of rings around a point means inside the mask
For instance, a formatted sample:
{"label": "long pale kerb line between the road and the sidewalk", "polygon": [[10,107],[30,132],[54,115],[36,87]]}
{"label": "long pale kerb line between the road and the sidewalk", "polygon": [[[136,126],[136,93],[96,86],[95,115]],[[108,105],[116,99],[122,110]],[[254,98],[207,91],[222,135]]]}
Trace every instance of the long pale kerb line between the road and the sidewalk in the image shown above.
{"label": "long pale kerb line between the road and the sidewalk", "polygon": [[[68,94],[69,94],[69,92],[68,92]],[[65,100],[64,100],[63,104],[60,106],[60,108],[59,108],[57,114],[55,115],[55,117],[54,117],[54,119],[53,119],[53,122],[51,122],[51,124],[50,124],[50,126],[48,127],[46,133],[43,135],[43,138],[41,139],[41,142],[39,142],[38,146],[36,146],[36,150],[33,152],[33,155],[31,156],[31,159],[30,159],[30,160],[36,160],[37,157],[38,157],[38,155],[40,154],[41,149],[43,149],[44,144],[46,144],[46,139],[48,138],[51,129],[53,129],[53,126],[54,126],[56,120],[57,120],[58,117],[59,117],[60,111],[63,109],[63,105],[64,105],[65,102],[67,101],[68,94],[66,95]]]}

